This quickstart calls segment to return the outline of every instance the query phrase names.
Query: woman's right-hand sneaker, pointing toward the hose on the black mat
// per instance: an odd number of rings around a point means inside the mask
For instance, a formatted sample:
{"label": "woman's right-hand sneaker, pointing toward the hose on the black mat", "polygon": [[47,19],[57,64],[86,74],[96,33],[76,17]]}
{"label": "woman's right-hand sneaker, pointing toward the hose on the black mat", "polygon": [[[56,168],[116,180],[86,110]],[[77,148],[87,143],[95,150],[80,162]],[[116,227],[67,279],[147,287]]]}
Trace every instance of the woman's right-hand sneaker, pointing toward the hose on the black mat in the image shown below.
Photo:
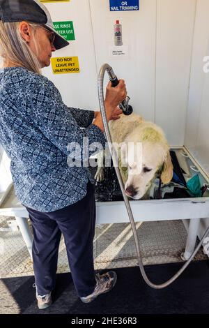
{"label": "woman's right-hand sneaker, pointing toward the hose on the black mat", "polygon": [[105,292],[109,292],[112,288],[114,288],[114,285],[116,284],[117,275],[114,271],[108,271],[106,274],[96,274],[96,285],[93,293],[86,297],[81,297],[81,300],[84,303],[89,303],[93,301],[96,297],[98,297],[100,294],[104,294]]}

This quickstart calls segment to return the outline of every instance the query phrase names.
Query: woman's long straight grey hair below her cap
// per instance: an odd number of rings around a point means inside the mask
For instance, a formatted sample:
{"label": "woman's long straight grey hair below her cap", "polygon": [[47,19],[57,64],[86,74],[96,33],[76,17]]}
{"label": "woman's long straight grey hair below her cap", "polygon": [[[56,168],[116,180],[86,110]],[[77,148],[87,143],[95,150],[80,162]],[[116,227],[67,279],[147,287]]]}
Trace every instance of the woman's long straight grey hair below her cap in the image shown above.
{"label": "woman's long straight grey hair below her cap", "polygon": [[[0,56],[15,66],[23,66],[34,73],[40,74],[40,64],[36,55],[27,45],[19,29],[20,22],[3,23],[0,21]],[[35,34],[38,24],[29,23]],[[35,43],[36,45],[36,43]],[[36,45],[38,47],[38,45]]]}

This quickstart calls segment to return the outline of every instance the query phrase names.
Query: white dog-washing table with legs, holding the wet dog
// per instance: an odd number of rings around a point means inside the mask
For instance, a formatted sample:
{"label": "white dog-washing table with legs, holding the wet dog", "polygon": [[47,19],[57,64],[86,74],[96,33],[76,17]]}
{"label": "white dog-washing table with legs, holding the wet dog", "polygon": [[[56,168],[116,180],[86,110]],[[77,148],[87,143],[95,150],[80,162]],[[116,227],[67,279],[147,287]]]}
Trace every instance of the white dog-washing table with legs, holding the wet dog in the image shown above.
{"label": "white dog-washing table with legs, holding the wet dog", "polygon": [[[188,162],[187,167],[190,169],[192,166],[192,171],[195,174],[198,172],[201,182],[208,184],[208,177],[189,155],[185,147],[178,147],[176,150],[180,151],[180,154],[184,154]],[[209,217],[209,192],[206,191],[206,197],[132,200],[130,205],[136,222],[189,220],[187,242],[182,255],[182,258],[187,260],[194,251],[200,219]],[[28,212],[15,197],[13,187],[7,191],[0,205],[0,216],[15,216],[17,225],[31,255],[33,236],[29,228]],[[96,202],[96,217],[98,224],[130,222],[123,201]]]}

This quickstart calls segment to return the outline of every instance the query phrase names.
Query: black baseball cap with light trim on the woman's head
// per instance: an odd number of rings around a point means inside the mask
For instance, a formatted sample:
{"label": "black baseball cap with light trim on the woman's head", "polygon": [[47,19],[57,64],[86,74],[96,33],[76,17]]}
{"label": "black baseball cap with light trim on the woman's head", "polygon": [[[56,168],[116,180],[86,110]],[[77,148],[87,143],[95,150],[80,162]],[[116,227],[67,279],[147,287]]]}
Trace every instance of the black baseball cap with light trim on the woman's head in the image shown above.
{"label": "black baseball cap with light trim on the woman's head", "polygon": [[55,31],[49,11],[39,0],[0,0],[0,20],[4,23],[26,20],[45,25],[55,34],[54,47],[56,50],[69,45],[69,42]]}

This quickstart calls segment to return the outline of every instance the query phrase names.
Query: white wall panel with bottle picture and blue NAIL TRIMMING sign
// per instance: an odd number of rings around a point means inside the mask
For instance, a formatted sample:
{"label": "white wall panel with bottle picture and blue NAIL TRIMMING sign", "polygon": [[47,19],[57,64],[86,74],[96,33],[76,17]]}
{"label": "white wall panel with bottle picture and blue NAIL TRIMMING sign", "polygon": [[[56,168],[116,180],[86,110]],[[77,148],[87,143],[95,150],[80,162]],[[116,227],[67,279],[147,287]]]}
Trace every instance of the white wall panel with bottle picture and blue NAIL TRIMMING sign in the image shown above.
{"label": "white wall panel with bottle picture and blue NAIL TRIMMING sign", "polygon": [[[109,0],[90,0],[90,4],[98,71],[104,63],[111,65],[118,78],[125,79],[134,112],[153,121],[156,1],[141,0],[139,11],[123,12],[110,12]],[[122,24],[127,59],[109,57],[109,47],[114,46],[116,20]]]}

